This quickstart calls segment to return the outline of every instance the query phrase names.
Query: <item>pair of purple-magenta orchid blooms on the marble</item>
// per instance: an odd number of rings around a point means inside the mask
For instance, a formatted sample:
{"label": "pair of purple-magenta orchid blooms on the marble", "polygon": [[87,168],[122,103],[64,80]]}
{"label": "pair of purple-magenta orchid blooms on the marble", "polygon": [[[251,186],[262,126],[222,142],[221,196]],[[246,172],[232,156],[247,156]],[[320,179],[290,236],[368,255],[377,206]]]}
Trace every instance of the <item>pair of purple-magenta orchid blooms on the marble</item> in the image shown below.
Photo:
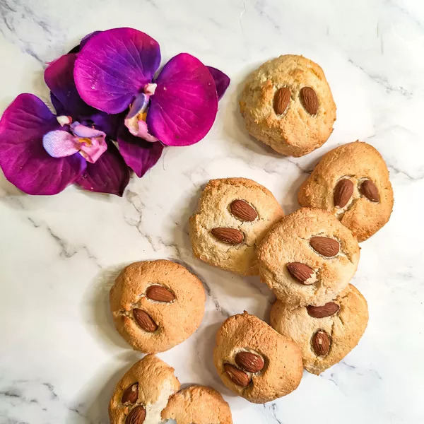
{"label": "pair of purple-magenta orchid blooms on the marble", "polygon": [[230,78],[183,53],[153,81],[159,64],[158,43],[140,31],[84,37],[45,70],[57,114],[35,95],[21,94],[1,117],[6,178],[28,194],[57,194],[76,183],[122,196],[128,167],[141,177],[164,145],[204,138]]}

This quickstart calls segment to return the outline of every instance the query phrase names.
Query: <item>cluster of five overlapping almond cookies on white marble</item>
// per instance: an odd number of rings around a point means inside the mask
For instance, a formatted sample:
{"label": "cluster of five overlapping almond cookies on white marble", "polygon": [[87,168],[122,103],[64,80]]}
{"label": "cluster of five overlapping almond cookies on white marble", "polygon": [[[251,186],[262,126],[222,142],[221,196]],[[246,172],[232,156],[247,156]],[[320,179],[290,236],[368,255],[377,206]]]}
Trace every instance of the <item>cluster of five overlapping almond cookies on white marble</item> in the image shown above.
{"label": "cluster of five overlapping almond cookies on white marble", "polygon": [[206,184],[190,218],[196,257],[241,275],[259,274],[276,295],[271,326],[238,314],[216,336],[214,362],[224,384],[263,403],[298,387],[302,367],[319,374],[357,344],[367,302],[350,284],[360,247],[387,223],[389,172],[367,143],[322,158],[288,216],[269,190],[245,178]]}

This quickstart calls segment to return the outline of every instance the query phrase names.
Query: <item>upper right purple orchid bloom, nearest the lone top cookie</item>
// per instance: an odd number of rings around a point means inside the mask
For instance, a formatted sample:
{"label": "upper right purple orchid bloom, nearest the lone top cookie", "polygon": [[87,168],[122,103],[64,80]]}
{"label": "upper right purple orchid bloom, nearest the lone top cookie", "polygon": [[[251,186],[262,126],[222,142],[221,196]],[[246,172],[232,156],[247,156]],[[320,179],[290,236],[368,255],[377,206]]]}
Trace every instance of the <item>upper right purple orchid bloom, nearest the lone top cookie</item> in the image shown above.
{"label": "upper right purple orchid bloom, nearest the lone top cookie", "polygon": [[74,78],[81,98],[110,114],[129,111],[118,134],[119,151],[139,175],[140,140],[153,145],[189,146],[206,136],[218,99],[230,78],[190,54],[160,65],[158,42],[132,28],[96,32],[81,43]]}

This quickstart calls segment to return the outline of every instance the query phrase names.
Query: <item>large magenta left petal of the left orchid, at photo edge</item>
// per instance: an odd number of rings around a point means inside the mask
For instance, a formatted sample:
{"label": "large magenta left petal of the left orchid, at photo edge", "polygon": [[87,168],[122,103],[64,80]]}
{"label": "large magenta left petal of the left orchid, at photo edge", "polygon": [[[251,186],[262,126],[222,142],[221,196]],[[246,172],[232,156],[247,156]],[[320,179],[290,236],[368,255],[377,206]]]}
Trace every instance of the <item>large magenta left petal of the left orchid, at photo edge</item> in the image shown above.
{"label": "large magenta left petal of the left orchid, at photo edge", "polygon": [[52,158],[42,146],[42,137],[59,129],[49,108],[35,95],[20,94],[0,120],[0,166],[5,177],[28,194],[57,194],[86,169],[76,153]]}

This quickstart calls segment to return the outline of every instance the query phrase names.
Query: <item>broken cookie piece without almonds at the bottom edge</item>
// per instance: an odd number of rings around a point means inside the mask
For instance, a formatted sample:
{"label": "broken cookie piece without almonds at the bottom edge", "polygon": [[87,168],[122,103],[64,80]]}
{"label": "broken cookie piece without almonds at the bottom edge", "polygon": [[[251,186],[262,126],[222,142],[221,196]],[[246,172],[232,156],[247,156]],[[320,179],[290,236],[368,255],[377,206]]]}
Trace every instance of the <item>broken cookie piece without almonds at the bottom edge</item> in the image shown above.
{"label": "broken cookie piece without almonds at the bottom edge", "polygon": [[230,406],[206,386],[191,386],[171,396],[162,418],[177,424],[232,424]]}

